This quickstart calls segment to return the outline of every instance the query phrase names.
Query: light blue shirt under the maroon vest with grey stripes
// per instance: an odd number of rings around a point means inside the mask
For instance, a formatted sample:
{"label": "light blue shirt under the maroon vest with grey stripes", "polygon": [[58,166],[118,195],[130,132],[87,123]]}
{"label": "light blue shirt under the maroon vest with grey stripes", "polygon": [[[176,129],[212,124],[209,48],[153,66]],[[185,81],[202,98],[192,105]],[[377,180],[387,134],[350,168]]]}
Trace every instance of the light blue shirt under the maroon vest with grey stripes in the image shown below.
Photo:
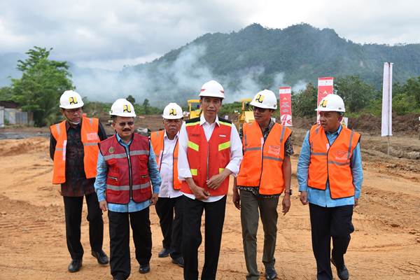
{"label": "light blue shirt under the maroon vest with grey stripes", "polygon": [[[116,134],[118,142],[124,146],[126,153],[128,153],[128,148],[130,147],[131,141],[129,144],[125,144],[124,141],[121,140],[120,136]],[[153,186],[153,193],[159,193],[160,184],[162,183],[162,179],[160,179],[158,165],[156,164],[155,153],[153,152],[153,148],[150,145],[150,153],[149,153],[149,160],[148,160],[148,172],[149,177],[152,182]],[[97,193],[98,201],[105,200],[105,191],[106,191],[106,175],[108,174],[108,167],[104,160],[104,156],[99,152],[98,155],[98,162],[97,162],[97,177],[96,181],[94,181],[94,190]],[[145,202],[134,202],[130,200],[128,204],[114,204],[108,203],[108,210],[113,212],[136,212],[146,209],[151,205],[151,200],[146,200]]]}

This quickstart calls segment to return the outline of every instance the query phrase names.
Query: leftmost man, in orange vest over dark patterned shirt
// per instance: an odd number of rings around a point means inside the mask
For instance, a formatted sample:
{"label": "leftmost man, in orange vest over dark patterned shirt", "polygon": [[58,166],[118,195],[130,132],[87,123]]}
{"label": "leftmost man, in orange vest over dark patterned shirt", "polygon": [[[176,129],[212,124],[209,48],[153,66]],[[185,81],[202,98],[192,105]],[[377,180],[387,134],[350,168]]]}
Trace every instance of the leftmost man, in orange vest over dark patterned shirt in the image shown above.
{"label": "leftmost man, in orange vest over dark patterned shirt", "polygon": [[97,144],[106,139],[106,132],[97,118],[83,116],[83,100],[77,92],[66,90],[59,99],[59,107],[64,120],[50,127],[50,157],[54,161],[52,183],[61,185],[67,248],[71,255],[68,269],[77,272],[82,267],[84,253],[80,243],[83,197],[87,204],[91,253],[101,265],[109,261],[102,251],[104,221],[93,187]]}

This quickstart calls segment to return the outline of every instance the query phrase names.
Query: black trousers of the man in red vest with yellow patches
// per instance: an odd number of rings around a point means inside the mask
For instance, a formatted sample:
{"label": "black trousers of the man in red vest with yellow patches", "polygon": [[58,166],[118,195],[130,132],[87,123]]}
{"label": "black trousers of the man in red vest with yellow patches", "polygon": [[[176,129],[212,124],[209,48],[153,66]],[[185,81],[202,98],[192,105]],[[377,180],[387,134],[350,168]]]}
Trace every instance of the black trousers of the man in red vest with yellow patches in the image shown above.
{"label": "black trousers of the man in red vest with yellow patches", "polygon": [[183,240],[184,279],[198,279],[198,247],[202,243],[201,221],[206,211],[204,267],[202,280],[216,279],[222,230],[225,222],[226,196],[216,202],[202,202],[183,198]]}

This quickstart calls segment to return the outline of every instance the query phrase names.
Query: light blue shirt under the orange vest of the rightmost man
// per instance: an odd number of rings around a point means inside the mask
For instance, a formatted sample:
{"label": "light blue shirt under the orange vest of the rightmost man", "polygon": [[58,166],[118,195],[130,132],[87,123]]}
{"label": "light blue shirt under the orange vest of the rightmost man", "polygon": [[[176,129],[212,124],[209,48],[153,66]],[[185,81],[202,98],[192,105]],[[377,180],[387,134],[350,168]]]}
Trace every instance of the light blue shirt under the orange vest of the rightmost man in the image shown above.
{"label": "light blue shirt under the orange vest of the rightmost man", "polygon": [[[341,132],[342,126],[340,125],[336,132],[325,132],[330,146],[337,139],[338,134]],[[300,150],[299,162],[297,162],[297,181],[299,182],[299,191],[308,193],[308,202],[316,204],[321,207],[339,207],[344,205],[353,205],[354,198],[360,197],[360,190],[363,181],[362,169],[362,155],[360,154],[360,143],[357,144],[351,156],[351,174],[353,175],[353,186],[355,194],[353,197],[338,198],[333,200],[330,195],[330,184],[327,182],[325,190],[318,190],[316,188],[308,187],[308,169],[311,160],[311,146],[309,145],[309,132],[304,137],[302,150]]]}

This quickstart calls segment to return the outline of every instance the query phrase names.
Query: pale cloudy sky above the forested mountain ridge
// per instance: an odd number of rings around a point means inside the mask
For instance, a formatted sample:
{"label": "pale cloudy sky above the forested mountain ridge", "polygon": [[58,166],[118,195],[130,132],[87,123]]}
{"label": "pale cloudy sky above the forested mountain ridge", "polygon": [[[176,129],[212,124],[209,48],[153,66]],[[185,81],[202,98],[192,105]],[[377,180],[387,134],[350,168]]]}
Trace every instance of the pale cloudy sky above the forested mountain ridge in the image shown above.
{"label": "pale cloudy sky above the forested mountain ridge", "polygon": [[1,0],[0,54],[38,45],[78,66],[118,70],[253,22],[280,29],[307,22],[357,43],[420,43],[414,0]]}

